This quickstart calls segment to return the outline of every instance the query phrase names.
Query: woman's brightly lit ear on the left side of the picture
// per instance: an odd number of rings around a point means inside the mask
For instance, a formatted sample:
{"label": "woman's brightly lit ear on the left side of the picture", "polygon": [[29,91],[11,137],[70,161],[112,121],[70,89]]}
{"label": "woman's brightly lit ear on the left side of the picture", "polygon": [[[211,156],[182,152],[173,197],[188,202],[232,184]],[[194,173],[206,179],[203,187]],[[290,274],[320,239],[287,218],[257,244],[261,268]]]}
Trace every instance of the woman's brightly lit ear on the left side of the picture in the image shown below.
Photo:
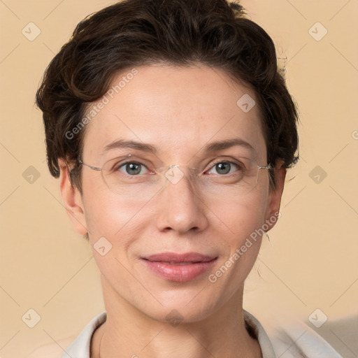
{"label": "woman's brightly lit ear on the left side of the picture", "polygon": [[88,230],[82,197],[78,189],[71,184],[69,167],[64,159],[59,159],[59,170],[59,189],[64,207],[75,230],[78,234],[85,235]]}

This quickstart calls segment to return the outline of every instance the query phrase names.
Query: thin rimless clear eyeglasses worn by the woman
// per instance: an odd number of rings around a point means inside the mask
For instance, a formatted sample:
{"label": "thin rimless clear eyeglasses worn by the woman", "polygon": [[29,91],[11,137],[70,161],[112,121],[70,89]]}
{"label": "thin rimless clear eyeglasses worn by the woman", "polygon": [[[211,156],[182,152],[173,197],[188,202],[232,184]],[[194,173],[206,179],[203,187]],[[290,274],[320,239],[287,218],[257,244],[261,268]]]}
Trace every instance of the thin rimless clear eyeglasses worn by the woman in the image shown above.
{"label": "thin rimless clear eyeglasses worn by the woman", "polygon": [[[103,182],[111,192],[141,197],[154,195],[164,185],[176,185],[185,176],[207,194],[242,196],[256,187],[261,170],[272,169],[271,165],[259,166],[255,159],[245,157],[220,157],[206,166],[205,171],[179,164],[154,169],[150,162],[131,155],[110,159],[101,167],[85,164],[82,160],[78,162],[101,171]],[[185,171],[189,171],[189,175]]]}

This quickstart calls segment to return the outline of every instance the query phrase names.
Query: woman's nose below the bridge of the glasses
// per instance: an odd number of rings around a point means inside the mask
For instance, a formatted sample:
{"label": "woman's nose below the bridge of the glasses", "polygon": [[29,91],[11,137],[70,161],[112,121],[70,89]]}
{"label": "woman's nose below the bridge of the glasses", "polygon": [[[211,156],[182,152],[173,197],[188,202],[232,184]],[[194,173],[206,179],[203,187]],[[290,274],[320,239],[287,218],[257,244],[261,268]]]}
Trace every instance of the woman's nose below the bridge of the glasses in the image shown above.
{"label": "woman's nose below the bridge of the glasses", "polygon": [[175,166],[172,171],[166,172],[166,178],[157,198],[159,231],[172,229],[178,234],[185,234],[205,229],[208,226],[206,206],[188,169]]}

